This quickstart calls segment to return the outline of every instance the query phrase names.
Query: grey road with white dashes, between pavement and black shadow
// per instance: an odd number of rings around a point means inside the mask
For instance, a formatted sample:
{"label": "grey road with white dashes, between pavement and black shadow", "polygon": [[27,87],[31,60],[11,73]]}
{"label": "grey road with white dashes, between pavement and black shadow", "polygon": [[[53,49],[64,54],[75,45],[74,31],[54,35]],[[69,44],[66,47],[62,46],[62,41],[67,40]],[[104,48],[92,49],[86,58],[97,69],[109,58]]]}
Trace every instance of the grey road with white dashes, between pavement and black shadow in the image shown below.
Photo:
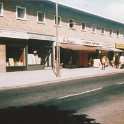
{"label": "grey road with white dashes, between pavement and black shadow", "polygon": [[[105,119],[102,118],[103,114],[100,117],[98,116],[100,114],[94,114],[94,112],[106,113],[113,102],[118,102],[116,107],[120,106],[118,100],[124,103],[124,74],[122,73],[0,91],[0,108],[42,104],[54,106],[60,110],[73,110],[76,114],[88,114],[102,122]],[[107,107],[105,108],[104,105]],[[122,109],[124,110],[123,104],[120,110]],[[117,110],[119,109],[115,111]]]}

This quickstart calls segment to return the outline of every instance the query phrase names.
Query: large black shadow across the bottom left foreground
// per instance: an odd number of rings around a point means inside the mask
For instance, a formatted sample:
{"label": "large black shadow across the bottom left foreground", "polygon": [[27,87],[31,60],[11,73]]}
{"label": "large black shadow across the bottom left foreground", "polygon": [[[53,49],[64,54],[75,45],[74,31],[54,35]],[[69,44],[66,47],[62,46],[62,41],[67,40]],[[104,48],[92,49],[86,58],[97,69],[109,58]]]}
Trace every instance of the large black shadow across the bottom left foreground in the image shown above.
{"label": "large black shadow across the bottom left foreground", "polygon": [[23,106],[0,109],[1,124],[100,124],[88,115],[55,106]]}

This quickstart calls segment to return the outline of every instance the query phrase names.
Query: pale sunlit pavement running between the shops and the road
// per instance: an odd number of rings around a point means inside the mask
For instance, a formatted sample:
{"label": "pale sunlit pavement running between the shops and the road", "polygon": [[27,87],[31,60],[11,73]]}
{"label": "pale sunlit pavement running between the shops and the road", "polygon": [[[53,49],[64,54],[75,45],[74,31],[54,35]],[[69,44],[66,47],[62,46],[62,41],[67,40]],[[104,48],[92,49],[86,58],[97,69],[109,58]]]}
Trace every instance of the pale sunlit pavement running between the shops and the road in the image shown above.
{"label": "pale sunlit pavement running between the shops and the road", "polygon": [[61,69],[59,77],[55,76],[52,69],[5,72],[0,73],[0,90],[59,83],[61,81],[105,76],[116,73],[124,73],[124,69],[112,67],[106,67],[105,70],[94,67]]}

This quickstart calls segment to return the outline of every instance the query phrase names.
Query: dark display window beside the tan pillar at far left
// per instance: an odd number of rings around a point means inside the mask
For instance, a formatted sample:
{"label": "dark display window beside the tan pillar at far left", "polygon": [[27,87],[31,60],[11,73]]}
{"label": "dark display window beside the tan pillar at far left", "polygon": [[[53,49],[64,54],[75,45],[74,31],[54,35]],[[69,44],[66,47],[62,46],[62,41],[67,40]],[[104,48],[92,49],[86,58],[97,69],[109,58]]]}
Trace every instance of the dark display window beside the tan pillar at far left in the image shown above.
{"label": "dark display window beside the tan pillar at far left", "polygon": [[25,48],[7,46],[6,48],[6,66],[19,67],[25,66]]}

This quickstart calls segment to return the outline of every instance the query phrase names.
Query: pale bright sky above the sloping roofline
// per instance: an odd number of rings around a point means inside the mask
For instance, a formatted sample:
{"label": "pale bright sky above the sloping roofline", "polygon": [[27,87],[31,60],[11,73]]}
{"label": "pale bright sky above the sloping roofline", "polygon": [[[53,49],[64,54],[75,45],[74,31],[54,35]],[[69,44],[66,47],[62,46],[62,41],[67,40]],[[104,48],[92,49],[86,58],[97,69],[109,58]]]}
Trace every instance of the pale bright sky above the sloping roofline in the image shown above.
{"label": "pale bright sky above the sloping roofline", "polygon": [[51,0],[124,24],[124,0]]}

